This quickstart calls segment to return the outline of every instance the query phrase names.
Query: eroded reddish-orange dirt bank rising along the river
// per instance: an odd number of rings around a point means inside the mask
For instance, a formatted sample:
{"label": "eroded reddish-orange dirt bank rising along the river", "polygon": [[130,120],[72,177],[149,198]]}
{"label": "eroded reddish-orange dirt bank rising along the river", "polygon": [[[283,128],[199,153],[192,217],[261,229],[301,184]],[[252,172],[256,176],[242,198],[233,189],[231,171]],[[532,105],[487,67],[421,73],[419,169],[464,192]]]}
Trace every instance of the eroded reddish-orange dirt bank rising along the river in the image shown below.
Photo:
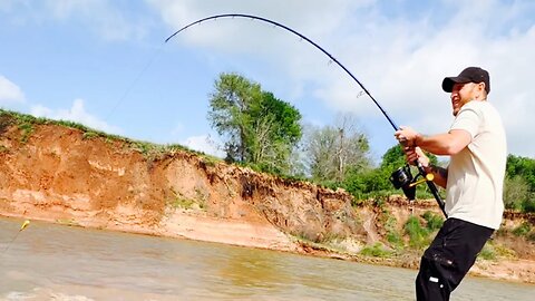
{"label": "eroded reddish-orange dirt bank rising along the river", "polygon": [[[77,128],[21,126],[6,114],[0,115],[0,215],[54,223],[349,260],[364,260],[357,253],[385,236],[378,208],[353,208],[343,191]],[[389,206],[401,220],[410,213],[402,200]],[[434,208],[422,203],[416,211]],[[532,251],[478,263],[473,273],[535,283],[533,244],[517,247]],[[417,260],[368,259],[408,268]]]}

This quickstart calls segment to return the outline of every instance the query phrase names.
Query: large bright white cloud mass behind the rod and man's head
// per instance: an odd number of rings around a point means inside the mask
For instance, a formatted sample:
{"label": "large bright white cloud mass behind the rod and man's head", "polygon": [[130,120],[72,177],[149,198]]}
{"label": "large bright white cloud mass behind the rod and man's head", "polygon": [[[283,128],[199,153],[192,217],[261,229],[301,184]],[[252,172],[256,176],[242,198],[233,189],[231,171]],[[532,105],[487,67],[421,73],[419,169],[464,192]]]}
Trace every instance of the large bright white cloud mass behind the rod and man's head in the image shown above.
{"label": "large bright white cloud mass behind the rod and man's head", "polygon": [[[525,139],[533,136],[535,127],[533,1],[473,1],[464,6],[442,1],[429,4],[428,11],[418,7],[419,18],[410,6],[420,4],[410,1],[393,17],[386,14],[379,1],[149,2],[174,29],[211,14],[240,12],[256,13],[301,31],[351,70],[396,122],[428,134],[446,130],[451,122],[449,96],[440,88],[442,78],[467,66],[481,66],[492,76],[489,100],[503,114],[509,152],[535,154],[535,139]],[[283,2],[284,9],[280,9]],[[264,60],[265,69],[279,66],[283,76],[259,80],[276,82],[276,95],[315,96],[332,110],[357,114],[364,124],[370,115],[381,115],[364,99],[367,96],[357,98],[360,87],[338,66],[328,65],[327,57],[288,32],[241,19],[207,21],[181,35],[176,43],[203,47],[221,56],[250,56]]]}

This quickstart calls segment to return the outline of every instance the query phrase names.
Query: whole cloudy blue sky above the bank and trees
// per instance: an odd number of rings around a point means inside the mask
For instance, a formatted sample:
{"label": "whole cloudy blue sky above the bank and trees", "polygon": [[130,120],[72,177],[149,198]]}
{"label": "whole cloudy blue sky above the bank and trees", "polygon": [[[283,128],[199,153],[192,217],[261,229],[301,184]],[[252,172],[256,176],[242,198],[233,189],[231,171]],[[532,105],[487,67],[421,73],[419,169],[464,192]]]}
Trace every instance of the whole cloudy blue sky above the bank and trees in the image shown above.
{"label": "whole cloudy blue sky above the bank and trees", "polygon": [[329,58],[266,23],[284,23],[342,62],[398,125],[451,123],[445,76],[490,72],[512,154],[535,157],[535,1],[0,0],[0,106],[134,139],[217,154],[206,119],[221,72],[239,72],[328,125],[353,114],[379,158],[393,129]]}

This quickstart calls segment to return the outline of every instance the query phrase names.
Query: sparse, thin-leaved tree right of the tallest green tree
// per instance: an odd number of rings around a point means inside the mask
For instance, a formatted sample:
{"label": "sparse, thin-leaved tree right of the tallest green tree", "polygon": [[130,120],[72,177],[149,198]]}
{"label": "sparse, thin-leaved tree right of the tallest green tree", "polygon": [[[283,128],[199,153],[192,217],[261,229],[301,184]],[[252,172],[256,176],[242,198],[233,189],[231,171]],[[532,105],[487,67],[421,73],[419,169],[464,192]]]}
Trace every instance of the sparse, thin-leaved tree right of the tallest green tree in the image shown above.
{"label": "sparse, thin-leaved tree right of the tallest green tree", "polygon": [[312,127],[304,149],[310,174],[319,182],[341,183],[350,169],[370,165],[368,138],[350,115],[339,115],[334,126]]}

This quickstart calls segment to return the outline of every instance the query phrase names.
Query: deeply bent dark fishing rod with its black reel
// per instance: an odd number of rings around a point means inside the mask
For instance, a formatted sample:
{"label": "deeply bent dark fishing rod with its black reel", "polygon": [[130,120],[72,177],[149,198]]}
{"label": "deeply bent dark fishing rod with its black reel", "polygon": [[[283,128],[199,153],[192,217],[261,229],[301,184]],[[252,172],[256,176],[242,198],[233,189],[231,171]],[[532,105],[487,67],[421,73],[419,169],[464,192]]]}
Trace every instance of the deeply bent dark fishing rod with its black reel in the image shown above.
{"label": "deeply bent dark fishing rod with its black reel", "polygon": [[[293,35],[300,37],[301,39],[308,41],[310,45],[314,46],[317,49],[319,49],[321,52],[323,52],[325,56],[328,56],[331,59],[331,61],[334,61],[340,68],[342,68],[346,71],[346,74],[349,75],[360,86],[360,88],[362,88],[362,90],[366,93],[366,95],[368,95],[368,97],[370,97],[370,99],[373,101],[373,104],[376,104],[376,106],[379,108],[379,110],[382,113],[382,115],[387,118],[387,120],[390,123],[390,125],[393,127],[393,129],[395,130],[399,129],[397,124],[388,115],[388,113],[382,108],[382,106],[379,104],[379,101],[377,101],[377,99],[370,94],[370,91],[364,87],[364,85],[362,85],[362,82],[360,82],[360,80],[357,79],[357,77],[353,76],[353,74],[351,74],[351,71],[349,71],[349,69],[346,68],[346,66],[343,66],[335,57],[333,57],[331,54],[329,54],[321,46],[319,46],[318,43],[315,43],[314,41],[312,41],[308,37],[303,36],[302,33],[300,33],[300,32],[298,32],[293,29],[291,29],[290,27],[288,27],[285,25],[275,22],[275,21],[266,19],[266,18],[257,17],[257,16],[254,16],[254,14],[245,14],[245,13],[215,14],[215,16],[210,16],[210,17],[206,17],[206,18],[198,19],[194,22],[191,22],[191,23],[184,26],[183,28],[178,29],[173,35],[171,35],[167,39],[165,39],[165,42],[168,42],[171,39],[173,39],[173,37],[181,33],[182,31],[188,29],[189,27],[193,27],[195,25],[200,25],[204,21],[223,19],[223,18],[232,18],[232,19],[244,18],[244,19],[252,19],[252,20],[266,22],[266,23],[273,25],[275,27],[282,28],[286,31],[290,31]],[[392,184],[395,185],[396,188],[401,187],[403,190],[405,195],[410,201],[415,200],[416,185],[420,184],[422,182],[426,182],[427,186],[429,187],[429,191],[431,192],[432,196],[437,201],[438,206],[442,211],[444,215],[447,217],[446,210],[445,210],[445,203],[444,203],[442,198],[440,197],[440,195],[438,193],[437,186],[432,182],[432,174],[427,174],[426,171],[424,169],[424,166],[418,161],[415,162],[415,165],[418,167],[418,172],[419,172],[419,174],[416,177],[412,177],[412,175],[410,174],[410,169],[408,168],[408,166],[406,166],[406,167],[401,167],[398,171],[393,172],[392,176],[390,177],[390,181],[392,182]],[[417,181],[418,176],[422,176],[422,179]]]}

